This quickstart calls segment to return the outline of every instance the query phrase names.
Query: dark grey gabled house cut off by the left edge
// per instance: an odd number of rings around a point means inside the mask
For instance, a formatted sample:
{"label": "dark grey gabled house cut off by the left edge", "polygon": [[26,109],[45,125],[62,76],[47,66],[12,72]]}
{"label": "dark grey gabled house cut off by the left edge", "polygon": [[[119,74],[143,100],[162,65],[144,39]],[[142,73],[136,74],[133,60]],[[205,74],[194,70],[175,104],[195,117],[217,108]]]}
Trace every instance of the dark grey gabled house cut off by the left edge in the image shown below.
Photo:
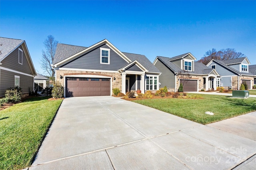
{"label": "dark grey gabled house cut off by the left edge", "polygon": [[0,96],[14,86],[22,88],[22,96],[28,96],[34,87],[36,70],[24,40],[0,37]]}

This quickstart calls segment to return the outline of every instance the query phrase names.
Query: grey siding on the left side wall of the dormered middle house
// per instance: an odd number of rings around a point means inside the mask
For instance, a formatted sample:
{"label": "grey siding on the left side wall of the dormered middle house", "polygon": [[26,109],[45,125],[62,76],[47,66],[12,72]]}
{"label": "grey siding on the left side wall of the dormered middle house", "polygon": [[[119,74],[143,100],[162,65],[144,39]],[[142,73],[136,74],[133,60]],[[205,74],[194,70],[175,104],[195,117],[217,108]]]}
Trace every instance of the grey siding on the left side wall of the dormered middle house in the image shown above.
{"label": "grey siding on the left side wall of the dormered middle house", "polygon": [[159,60],[156,61],[155,66],[160,72],[162,72],[159,76],[159,82],[161,83],[160,88],[164,88],[164,86],[166,86],[167,88],[174,89],[176,84],[174,73]]}

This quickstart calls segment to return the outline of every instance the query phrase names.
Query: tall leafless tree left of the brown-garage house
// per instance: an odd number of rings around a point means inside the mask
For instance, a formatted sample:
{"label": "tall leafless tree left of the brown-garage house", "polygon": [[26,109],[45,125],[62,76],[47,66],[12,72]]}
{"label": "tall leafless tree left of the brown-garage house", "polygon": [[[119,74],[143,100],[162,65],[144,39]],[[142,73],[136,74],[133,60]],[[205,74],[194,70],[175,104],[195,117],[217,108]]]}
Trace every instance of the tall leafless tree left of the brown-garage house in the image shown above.
{"label": "tall leafless tree left of the brown-garage house", "polygon": [[56,41],[52,35],[48,35],[47,39],[44,41],[45,51],[42,50],[41,68],[51,76],[50,79],[52,80],[55,70],[52,68],[51,64],[54,60],[57,44],[58,41]]}

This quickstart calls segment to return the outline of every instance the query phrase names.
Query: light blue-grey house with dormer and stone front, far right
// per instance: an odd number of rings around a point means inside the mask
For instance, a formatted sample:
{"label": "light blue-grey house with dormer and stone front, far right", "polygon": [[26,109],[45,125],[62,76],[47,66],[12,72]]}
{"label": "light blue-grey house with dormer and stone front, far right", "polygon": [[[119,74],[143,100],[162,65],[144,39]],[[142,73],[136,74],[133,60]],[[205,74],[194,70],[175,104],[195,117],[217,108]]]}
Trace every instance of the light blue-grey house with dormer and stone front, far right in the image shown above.
{"label": "light blue-grey house with dormer and stone front, far right", "polygon": [[[242,82],[246,82],[248,89],[252,89],[255,82],[255,72],[249,67],[247,57],[226,61],[212,60],[206,66],[215,68],[221,76],[220,86],[224,88],[240,89]],[[254,69],[255,71],[255,69]]]}

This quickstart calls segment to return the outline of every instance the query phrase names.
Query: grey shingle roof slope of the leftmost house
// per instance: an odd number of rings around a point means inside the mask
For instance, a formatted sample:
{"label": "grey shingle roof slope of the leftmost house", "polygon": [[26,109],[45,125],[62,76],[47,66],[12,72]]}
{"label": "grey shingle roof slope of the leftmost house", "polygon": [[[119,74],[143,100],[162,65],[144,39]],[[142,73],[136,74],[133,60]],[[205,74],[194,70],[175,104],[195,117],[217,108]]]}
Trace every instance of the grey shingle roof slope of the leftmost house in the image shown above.
{"label": "grey shingle roof slope of the leftmost house", "polygon": [[18,47],[24,40],[0,37],[0,60],[6,57],[13,49]]}

